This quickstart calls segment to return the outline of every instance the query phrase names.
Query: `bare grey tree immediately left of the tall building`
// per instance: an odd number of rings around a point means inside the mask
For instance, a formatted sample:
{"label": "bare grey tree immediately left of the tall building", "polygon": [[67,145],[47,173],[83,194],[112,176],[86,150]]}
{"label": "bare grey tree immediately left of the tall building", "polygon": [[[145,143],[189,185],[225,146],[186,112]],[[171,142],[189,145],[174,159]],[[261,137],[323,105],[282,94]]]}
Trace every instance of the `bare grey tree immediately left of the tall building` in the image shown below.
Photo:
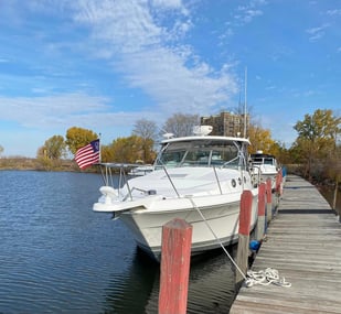
{"label": "bare grey tree immediately left of the tall building", "polygon": [[193,127],[200,124],[199,115],[174,113],[162,127],[163,133],[173,133],[174,137],[187,137],[193,133]]}

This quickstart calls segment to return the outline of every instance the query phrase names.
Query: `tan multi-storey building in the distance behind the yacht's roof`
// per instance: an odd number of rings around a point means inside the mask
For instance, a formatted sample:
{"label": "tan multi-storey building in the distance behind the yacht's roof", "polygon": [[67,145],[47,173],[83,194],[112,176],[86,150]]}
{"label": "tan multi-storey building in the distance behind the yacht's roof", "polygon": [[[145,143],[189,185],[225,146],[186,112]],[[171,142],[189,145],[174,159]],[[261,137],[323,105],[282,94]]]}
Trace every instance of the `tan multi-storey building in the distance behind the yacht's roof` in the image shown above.
{"label": "tan multi-storey building in the distance behind the yacht's roof", "polygon": [[201,117],[200,122],[202,126],[212,126],[213,131],[211,136],[223,137],[244,137],[244,124],[246,122],[246,137],[249,124],[249,116],[235,115],[232,112],[223,111],[220,115],[211,117]]}

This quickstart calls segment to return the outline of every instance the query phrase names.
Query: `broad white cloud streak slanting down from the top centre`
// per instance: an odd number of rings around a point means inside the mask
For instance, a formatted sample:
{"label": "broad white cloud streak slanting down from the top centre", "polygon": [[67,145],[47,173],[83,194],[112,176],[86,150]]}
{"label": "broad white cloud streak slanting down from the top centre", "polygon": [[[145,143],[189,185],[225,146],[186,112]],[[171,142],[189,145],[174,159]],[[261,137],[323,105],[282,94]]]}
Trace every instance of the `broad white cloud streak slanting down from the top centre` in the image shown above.
{"label": "broad white cloud streak slanting down from the top centre", "polygon": [[227,101],[236,93],[233,76],[201,62],[191,46],[178,41],[191,28],[190,12],[180,1],[153,3],[164,4],[163,10],[178,10],[172,23],[161,23],[147,2],[126,0],[100,6],[79,2],[75,21],[92,28],[92,39],[109,51],[100,54],[113,61],[127,84],[142,89],[167,113],[207,111]]}

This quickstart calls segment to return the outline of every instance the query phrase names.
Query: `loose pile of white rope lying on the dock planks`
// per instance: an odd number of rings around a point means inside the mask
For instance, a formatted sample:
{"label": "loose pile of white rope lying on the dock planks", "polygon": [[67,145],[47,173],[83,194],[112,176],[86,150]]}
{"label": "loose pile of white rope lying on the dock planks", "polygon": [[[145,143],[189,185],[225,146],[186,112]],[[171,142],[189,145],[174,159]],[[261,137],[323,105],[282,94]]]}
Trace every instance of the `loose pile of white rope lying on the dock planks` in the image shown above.
{"label": "loose pile of white rope lying on the dock planks", "polygon": [[273,268],[267,268],[266,270],[259,271],[252,271],[248,270],[246,273],[245,285],[247,288],[262,284],[262,285],[269,285],[276,284],[279,286],[290,288],[291,283],[287,282],[285,278],[279,278],[278,270]]}

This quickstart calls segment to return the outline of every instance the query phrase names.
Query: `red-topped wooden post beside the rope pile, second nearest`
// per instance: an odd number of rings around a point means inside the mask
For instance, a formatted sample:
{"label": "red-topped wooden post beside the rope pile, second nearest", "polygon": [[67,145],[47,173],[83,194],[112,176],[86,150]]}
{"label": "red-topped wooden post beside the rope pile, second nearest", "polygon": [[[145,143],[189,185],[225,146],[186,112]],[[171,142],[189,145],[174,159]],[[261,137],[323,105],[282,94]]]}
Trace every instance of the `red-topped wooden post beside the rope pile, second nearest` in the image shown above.
{"label": "red-topped wooden post beside the rope pile, second nearest", "polygon": [[[249,226],[252,218],[253,194],[251,191],[244,191],[241,197],[239,214],[239,239],[237,248],[237,266],[244,273],[248,267],[248,246],[249,246]],[[244,279],[243,274],[236,270],[236,283]]]}

